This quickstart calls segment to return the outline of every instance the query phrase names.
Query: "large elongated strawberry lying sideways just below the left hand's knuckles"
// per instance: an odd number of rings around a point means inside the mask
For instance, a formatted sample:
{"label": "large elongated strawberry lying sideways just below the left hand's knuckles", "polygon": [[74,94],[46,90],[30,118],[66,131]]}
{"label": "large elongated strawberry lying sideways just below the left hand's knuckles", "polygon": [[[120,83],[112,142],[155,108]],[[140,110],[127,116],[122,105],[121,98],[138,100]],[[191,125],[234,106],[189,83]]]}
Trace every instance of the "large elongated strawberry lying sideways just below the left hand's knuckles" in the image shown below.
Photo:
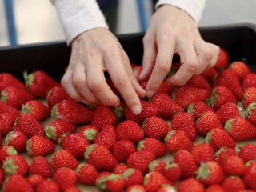
{"label": "large elongated strawberry lying sideways just below the left hand's knuckles", "polygon": [[74,125],[86,124],[90,122],[92,111],[70,99],[64,99],[53,106],[51,110],[53,118],[59,118],[64,122]]}

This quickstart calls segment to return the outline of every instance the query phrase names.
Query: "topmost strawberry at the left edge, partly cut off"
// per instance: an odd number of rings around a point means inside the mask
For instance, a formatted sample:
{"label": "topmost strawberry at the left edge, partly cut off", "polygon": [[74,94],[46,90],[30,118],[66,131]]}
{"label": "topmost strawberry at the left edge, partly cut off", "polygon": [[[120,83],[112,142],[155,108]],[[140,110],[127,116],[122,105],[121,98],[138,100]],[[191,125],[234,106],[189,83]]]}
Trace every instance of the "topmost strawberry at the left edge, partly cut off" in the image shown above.
{"label": "topmost strawberry at the left edge, partly cut off", "polygon": [[15,78],[12,74],[1,73],[0,74],[0,92],[6,88],[6,86],[14,86],[20,90],[26,90],[26,86]]}

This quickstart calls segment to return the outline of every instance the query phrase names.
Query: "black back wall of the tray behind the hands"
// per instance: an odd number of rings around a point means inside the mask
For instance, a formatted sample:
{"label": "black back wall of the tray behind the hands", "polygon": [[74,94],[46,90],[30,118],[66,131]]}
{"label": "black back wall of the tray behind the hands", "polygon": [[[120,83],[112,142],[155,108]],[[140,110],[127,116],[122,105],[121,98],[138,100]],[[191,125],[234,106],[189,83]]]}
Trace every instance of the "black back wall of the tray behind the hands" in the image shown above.
{"label": "black back wall of the tray behind the hands", "polygon": [[[254,70],[256,63],[256,26],[243,23],[231,26],[200,28],[202,38],[228,51],[230,62],[242,60]],[[118,35],[130,62],[142,62],[143,34]],[[51,77],[60,80],[70,59],[70,47],[66,42],[47,42],[25,46],[0,48],[0,73],[8,72],[23,80],[22,72],[44,70]]]}

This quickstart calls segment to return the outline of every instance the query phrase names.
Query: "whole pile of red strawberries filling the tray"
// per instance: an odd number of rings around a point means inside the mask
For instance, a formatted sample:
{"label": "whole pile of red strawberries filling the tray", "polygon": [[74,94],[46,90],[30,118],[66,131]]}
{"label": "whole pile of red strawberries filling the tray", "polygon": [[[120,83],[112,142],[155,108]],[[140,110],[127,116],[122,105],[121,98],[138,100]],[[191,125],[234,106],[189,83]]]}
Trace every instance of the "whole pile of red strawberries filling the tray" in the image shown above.
{"label": "whole pile of red strawberries filling the tray", "polygon": [[[173,66],[170,74],[180,63]],[[141,66],[132,67],[138,77]],[[24,78],[0,74],[4,192],[80,191],[78,183],[110,192],[256,191],[256,74],[230,64],[225,50],[185,86],[162,82],[141,99],[139,115],[124,103],[74,102],[41,70]]]}

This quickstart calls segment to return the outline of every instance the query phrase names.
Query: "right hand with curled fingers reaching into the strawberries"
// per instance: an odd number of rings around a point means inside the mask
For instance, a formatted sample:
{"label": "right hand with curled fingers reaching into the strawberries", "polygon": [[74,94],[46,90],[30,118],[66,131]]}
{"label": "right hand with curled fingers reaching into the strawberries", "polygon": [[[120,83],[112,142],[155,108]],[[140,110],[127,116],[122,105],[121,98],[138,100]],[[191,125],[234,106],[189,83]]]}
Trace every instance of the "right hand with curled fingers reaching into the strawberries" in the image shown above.
{"label": "right hand with curled fingers reaching into the strawberries", "polygon": [[179,54],[182,66],[166,78],[173,86],[183,86],[194,75],[214,66],[219,48],[205,42],[197,23],[184,10],[163,5],[156,10],[143,38],[144,54],[140,81],[148,81],[147,97],[152,97],[170,71],[174,54]]}

